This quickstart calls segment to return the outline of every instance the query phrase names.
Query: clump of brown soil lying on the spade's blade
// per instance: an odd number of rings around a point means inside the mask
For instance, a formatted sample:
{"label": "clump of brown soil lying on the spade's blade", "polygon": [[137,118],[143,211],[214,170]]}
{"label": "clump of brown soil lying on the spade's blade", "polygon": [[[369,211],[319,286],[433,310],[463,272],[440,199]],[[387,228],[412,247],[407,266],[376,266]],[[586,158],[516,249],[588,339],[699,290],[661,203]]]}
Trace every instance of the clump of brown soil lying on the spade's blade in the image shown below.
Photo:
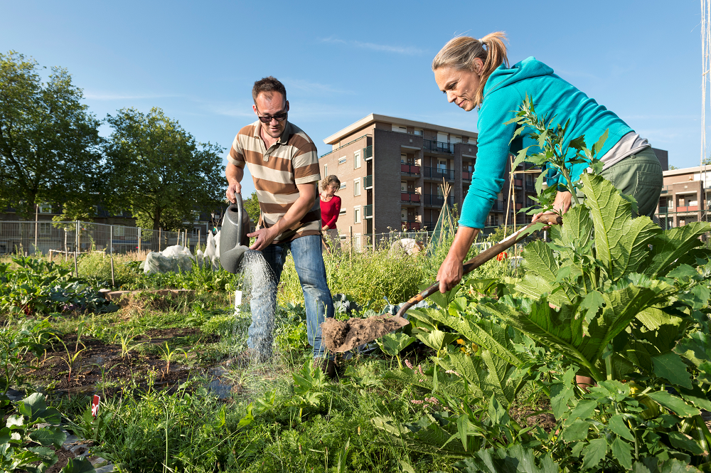
{"label": "clump of brown soil lying on the spade's blade", "polygon": [[375,315],[367,319],[353,317],[345,321],[326,319],[321,324],[321,337],[328,351],[338,353],[379,339],[408,323],[402,317],[390,314]]}

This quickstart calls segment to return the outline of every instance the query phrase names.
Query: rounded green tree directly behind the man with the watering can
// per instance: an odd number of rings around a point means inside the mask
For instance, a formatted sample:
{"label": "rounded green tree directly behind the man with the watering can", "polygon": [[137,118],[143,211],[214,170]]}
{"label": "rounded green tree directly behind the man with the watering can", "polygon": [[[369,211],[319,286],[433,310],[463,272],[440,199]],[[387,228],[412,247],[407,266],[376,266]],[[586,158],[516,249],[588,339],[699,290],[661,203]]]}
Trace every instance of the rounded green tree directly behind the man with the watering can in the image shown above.
{"label": "rounded green tree directly behind the man with the watering can", "polygon": [[131,208],[147,228],[176,230],[224,198],[222,147],[196,142],[159,108],[118,110],[106,122],[113,127],[106,155],[114,208]]}

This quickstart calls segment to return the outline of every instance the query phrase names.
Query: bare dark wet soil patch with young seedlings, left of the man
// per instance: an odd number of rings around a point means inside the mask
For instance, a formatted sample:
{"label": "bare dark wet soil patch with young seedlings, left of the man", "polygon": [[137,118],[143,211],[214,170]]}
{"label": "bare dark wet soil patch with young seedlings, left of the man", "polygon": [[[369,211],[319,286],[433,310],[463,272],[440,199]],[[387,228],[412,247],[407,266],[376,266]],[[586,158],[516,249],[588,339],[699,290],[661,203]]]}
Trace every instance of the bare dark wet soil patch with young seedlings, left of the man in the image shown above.
{"label": "bare dark wet soil patch with young seedlings, left of the man", "polygon": [[[39,360],[28,357],[27,361],[33,368],[29,368],[25,374],[40,388],[48,387],[55,393],[70,395],[92,394],[99,390],[105,395],[113,395],[123,386],[127,386],[127,383],[135,382],[139,386],[146,386],[149,376],[154,376],[156,385],[169,388],[186,381],[191,373],[195,373],[196,368],[186,366],[185,355],[178,351],[168,369],[168,363],[161,359],[162,354],[157,347],[164,346],[167,341],[171,349],[181,348],[188,351],[190,346],[195,346],[198,341],[201,344],[215,343],[218,339],[219,336],[215,334],[203,334],[195,328],[149,330],[137,336],[130,344],[134,346],[142,343],[143,346],[122,356],[118,339],[117,343],[105,343],[100,339],[82,336],[77,347],[76,334],[65,334],[62,341],[69,353],[58,342],[48,345],[46,354]],[[80,354],[70,373],[67,362],[75,355],[76,348]],[[188,361],[195,357],[195,353],[188,354]]]}

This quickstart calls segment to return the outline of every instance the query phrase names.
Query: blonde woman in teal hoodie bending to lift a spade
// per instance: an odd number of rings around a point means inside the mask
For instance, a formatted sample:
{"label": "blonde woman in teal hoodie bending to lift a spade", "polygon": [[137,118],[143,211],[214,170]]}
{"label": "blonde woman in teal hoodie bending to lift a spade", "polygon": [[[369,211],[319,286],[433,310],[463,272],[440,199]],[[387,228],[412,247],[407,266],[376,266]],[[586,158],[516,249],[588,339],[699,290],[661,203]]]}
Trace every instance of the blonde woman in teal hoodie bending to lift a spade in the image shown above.
{"label": "blonde woman in teal hoodie bending to lift a spade", "polygon": [[[634,196],[639,215],[653,216],[661,193],[661,165],[646,139],[535,58],[509,68],[504,39],[506,36],[501,32],[481,39],[460,36],[449,41],[432,61],[434,80],[449,102],[466,112],[479,107],[474,174],[454,242],[437,273],[441,292],[461,280],[464,257],[501,192],[508,154],[535,144],[527,136],[523,142],[517,140],[518,149],[513,149],[510,140],[516,125],[504,124],[515,116],[527,95],[533,100],[537,114],[555,117],[554,125],[570,120],[569,139],[584,134],[585,142],[592,145],[608,130],[599,153],[604,163],[602,175],[623,193]],[[577,181],[586,168],[587,164],[570,166],[572,180]],[[549,186],[559,182],[564,182],[562,176],[548,179]],[[558,191],[554,208],[565,213],[570,202],[569,192]]]}

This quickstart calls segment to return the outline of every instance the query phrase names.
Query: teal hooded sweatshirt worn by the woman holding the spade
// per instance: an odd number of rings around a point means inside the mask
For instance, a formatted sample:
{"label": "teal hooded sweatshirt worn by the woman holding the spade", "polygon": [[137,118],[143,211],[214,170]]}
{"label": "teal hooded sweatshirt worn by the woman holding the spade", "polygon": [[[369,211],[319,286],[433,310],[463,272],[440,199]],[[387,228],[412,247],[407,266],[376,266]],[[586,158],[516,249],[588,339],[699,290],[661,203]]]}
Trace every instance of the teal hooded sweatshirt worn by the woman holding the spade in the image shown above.
{"label": "teal hooded sweatshirt worn by the woman holding the spade", "polygon": [[[497,194],[501,192],[509,152],[516,153],[522,147],[536,144],[525,131],[523,140],[516,139],[510,144],[516,124],[504,124],[515,117],[526,95],[533,99],[536,115],[546,115],[548,119],[555,116],[552,123],[554,126],[565,124],[570,119],[566,137],[568,140],[585,135],[587,147],[592,147],[608,129],[608,137],[598,156],[603,156],[621,137],[633,131],[613,112],[559,78],[552,68],[533,57],[511,68],[500,65],[484,85],[479,119],[476,122],[479,149],[469,193],[461,208],[459,225],[483,228],[486,216]],[[571,178],[576,181],[587,164],[568,167],[571,169]],[[548,179],[548,184],[562,184],[564,181],[562,176],[555,176]]]}

